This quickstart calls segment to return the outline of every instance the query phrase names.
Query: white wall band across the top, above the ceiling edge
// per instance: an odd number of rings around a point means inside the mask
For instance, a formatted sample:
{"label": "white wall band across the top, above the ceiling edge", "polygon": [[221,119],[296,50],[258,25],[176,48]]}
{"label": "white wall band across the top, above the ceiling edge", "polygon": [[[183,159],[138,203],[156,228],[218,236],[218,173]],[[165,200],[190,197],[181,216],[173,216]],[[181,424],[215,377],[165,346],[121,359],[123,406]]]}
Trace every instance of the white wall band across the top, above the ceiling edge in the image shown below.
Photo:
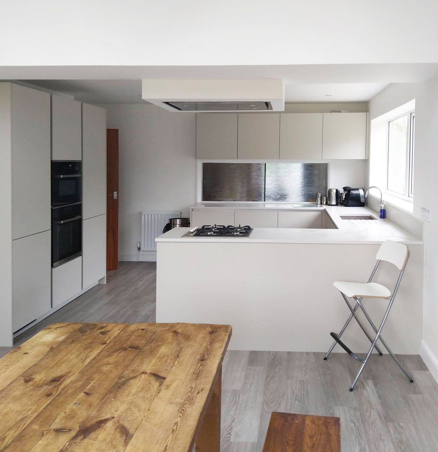
{"label": "white wall band across the top, above the ceiling edge", "polygon": [[2,2],[0,42],[8,45],[2,47],[0,65],[438,61],[433,45],[438,2],[433,0],[76,0],[74,8],[71,2],[43,0],[24,5]]}

